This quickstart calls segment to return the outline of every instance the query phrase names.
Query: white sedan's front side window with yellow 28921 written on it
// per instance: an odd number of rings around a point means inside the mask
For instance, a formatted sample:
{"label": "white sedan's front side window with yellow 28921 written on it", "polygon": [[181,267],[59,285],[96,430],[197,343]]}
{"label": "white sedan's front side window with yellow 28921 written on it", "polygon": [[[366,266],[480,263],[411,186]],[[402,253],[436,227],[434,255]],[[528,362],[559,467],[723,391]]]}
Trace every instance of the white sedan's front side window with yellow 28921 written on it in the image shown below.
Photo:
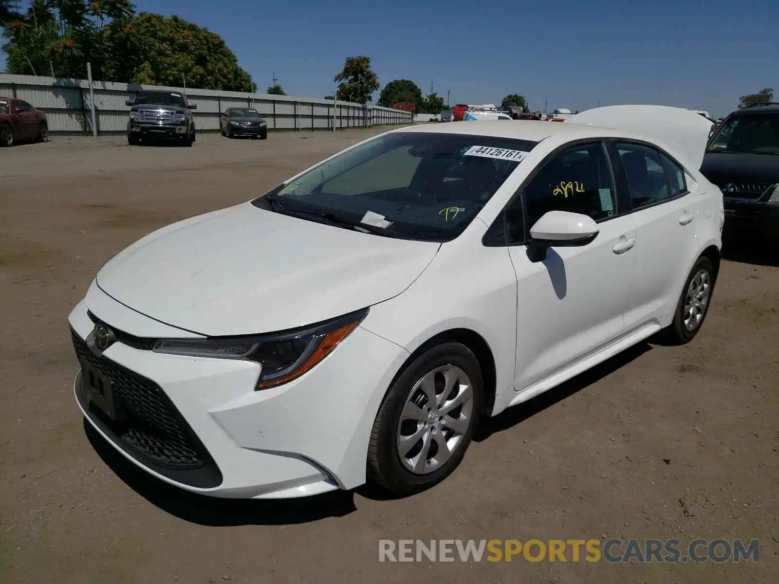
{"label": "white sedan's front side window with yellow 28921 written on it", "polygon": [[527,228],[548,211],[582,213],[594,220],[615,214],[612,169],[602,142],[572,146],[541,168],[523,192]]}

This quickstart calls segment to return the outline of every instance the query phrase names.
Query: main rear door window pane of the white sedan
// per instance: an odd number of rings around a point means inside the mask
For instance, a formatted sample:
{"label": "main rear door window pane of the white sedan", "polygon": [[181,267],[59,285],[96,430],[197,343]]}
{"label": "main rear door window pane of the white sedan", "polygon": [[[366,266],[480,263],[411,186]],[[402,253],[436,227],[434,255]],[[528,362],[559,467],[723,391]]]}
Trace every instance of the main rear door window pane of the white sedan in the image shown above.
{"label": "main rear door window pane of the white sedan", "polygon": [[660,153],[650,146],[630,142],[616,142],[615,146],[628,178],[633,209],[668,199],[668,180]]}

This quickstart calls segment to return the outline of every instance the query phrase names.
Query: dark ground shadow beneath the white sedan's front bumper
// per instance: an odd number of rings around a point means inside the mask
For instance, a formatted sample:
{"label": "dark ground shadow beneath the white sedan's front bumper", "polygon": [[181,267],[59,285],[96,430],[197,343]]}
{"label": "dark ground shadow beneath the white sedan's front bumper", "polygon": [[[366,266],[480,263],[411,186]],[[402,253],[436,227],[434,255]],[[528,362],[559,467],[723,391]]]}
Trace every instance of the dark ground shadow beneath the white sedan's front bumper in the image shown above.
{"label": "dark ground shadow beneath the white sedan's front bumper", "polygon": [[179,519],[202,526],[292,525],[343,517],[357,510],[351,491],[312,497],[261,500],[224,499],[184,491],[140,470],[83,420],[86,438],[97,456],[133,491]]}

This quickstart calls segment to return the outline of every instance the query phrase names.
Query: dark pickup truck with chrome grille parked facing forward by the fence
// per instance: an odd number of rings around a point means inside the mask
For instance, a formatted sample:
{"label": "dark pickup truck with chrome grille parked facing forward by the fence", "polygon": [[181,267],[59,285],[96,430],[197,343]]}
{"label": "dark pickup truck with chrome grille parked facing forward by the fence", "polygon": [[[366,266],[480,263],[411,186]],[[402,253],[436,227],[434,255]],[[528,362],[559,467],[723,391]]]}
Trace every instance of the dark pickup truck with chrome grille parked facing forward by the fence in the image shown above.
{"label": "dark pickup truck with chrome grille parked facing forward by the fence", "polygon": [[139,91],[130,106],[127,121],[127,142],[137,145],[142,140],[177,140],[184,146],[195,142],[195,119],[190,104],[181,93],[174,91]]}

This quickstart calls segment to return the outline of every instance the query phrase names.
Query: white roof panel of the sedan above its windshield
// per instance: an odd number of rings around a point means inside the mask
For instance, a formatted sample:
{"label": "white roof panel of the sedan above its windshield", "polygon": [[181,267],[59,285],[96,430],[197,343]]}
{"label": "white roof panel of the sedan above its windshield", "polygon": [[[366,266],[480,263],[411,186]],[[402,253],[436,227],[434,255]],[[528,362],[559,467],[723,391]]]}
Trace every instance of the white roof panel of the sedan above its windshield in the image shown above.
{"label": "white roof panel of the sedan above its windshield", "polygon": [[[513,138],[518,140],[530,140],[531,142],[541,142],[550,136],[560,137],[566,140],[576,140],[581,138],[601,138],[608,135],[625,135],[626,132],[616,131],[607,128],[600,128],[594,125],[574,124],[569,121],[562,123],[553,123],[551,121],[539,120],[513,120],[506,124],[505,120],[478,120],[467,122],[451,122],[448,124],[425,124],[413,126],[411,128],[398,128],[394,132],[430,132],[435,134],[460,134],[460,135],[488,135],[496,138]],[[645,139],[647,142],[654,142],[648,138],[642,138],[637,133],[629,132],[635,135],[636,139]]]}

